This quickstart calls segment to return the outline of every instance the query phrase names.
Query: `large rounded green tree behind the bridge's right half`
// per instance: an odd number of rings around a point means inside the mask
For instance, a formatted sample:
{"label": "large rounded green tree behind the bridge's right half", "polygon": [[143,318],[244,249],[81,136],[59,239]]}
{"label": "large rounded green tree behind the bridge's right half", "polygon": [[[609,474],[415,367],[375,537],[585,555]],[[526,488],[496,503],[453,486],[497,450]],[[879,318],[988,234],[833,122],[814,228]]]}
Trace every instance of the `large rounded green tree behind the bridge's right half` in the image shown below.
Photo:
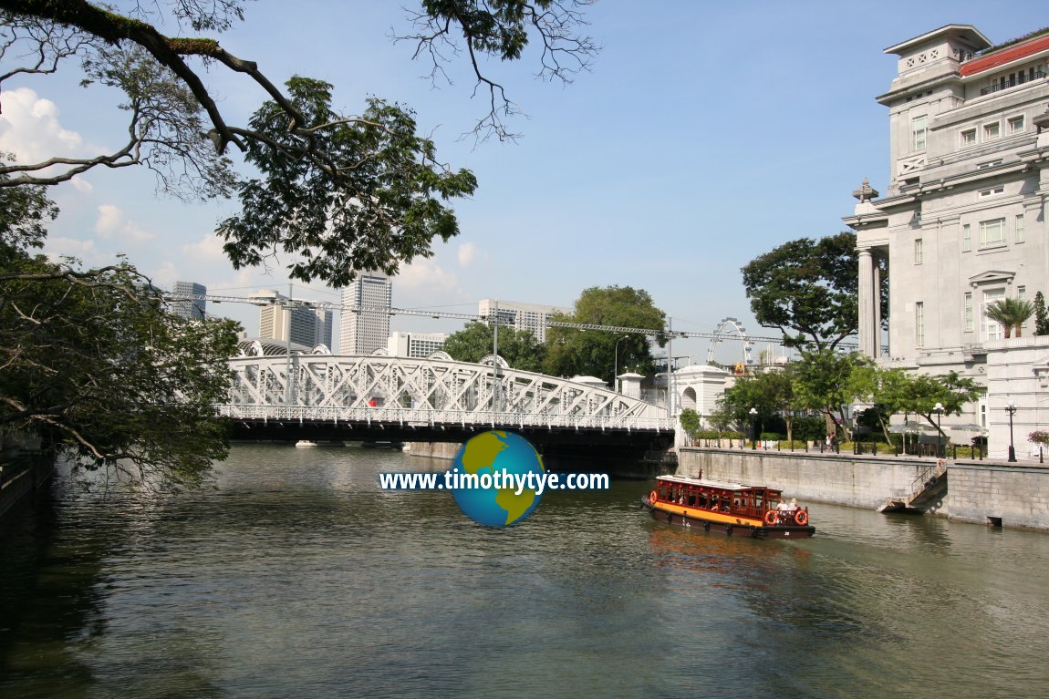
{"label": "large rounded green tree behind the bridge's right half", "polygon": [[[656,307],[644,289],[630,286],[594,286],[584,289],[570,314],[552,316],[555,322],[660,330],[666,314]],[[660,345],[663,344],[659,337]],[[551,327],[547,331],[543,371],[552,376],[590,375],[615,380],[613,371],[630,369],[642,374],[655,371],[649,336],[642,333],[606,332]]]}

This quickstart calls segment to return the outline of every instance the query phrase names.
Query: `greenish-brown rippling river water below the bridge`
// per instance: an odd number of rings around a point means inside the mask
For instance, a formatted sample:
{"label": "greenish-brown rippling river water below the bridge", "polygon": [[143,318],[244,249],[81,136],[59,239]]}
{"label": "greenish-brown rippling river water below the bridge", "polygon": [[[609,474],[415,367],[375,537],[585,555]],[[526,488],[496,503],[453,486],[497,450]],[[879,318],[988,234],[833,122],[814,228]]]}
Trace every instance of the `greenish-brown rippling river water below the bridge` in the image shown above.
{"label": "greenish-brown rippling river water below the bridge", "polygon": [[202,493],[59,482],[0,529],[0,697],[1046,696],[1045,533],[806,503],[813,539],[729,539],[640,481],[488,529],[379,490],[447,465],[260,445]]}

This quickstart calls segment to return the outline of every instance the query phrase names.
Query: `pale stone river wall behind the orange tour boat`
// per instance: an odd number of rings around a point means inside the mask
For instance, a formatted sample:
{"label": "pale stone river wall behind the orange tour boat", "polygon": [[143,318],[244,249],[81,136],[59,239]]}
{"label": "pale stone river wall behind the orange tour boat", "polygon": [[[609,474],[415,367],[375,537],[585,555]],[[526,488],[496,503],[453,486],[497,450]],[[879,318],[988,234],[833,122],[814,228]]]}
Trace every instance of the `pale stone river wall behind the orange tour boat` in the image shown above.
{"label": "pale stone river wall behind the orange tour boat", "polygon": [[[798,500],[880,507],[914,492],[935,461],[815,452],[680,447],[678,473],[780,488]],[[965,522],[1049,529],[1049,467],[947,462],[947,493],[932,514]]]}

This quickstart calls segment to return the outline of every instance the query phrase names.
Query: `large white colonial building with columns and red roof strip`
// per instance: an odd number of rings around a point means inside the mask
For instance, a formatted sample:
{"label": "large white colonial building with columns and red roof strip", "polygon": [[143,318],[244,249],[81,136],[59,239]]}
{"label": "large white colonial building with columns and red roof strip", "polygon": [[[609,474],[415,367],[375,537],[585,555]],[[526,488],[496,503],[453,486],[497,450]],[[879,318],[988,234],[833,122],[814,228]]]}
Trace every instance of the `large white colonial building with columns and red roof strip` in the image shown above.
{"label": "large white colonial building with columns and red roof strip", "polygon": [[[877,97],[889,108],[887,191],[878,198],[864,180],[844,219],[859,248],[860,348],[890,366],[987,386],[956,419],[990,429],[992,457],[1008,446],[1004,406],[1013,400],[1016,451],[1027,452],[1027,433],[1049,424],[1036,378],[1049,338],[1027,338],[1032,319],[1022,343],[1005,341],[984,311],[1049,293],[1049,31],[996,47],[951,24],[885,52],[899,57],[898,77]],[[887,333],[877,298],[886,272]],[[1014,344],[1024,347],[1016,362]]]}

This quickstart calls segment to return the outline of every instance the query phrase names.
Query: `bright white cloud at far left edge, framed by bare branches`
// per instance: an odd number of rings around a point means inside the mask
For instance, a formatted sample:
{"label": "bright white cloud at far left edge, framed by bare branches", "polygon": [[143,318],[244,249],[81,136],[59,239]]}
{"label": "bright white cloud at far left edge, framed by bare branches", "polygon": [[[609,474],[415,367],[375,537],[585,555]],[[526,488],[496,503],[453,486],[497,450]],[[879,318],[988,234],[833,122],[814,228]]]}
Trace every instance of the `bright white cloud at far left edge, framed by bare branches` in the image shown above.
{"label": "bright white cloud at far left edge, framed by bare branches", "polygon": [[84,155],[84,139],[63,128],[59,108],[27,87],[3,92],[0,114],[0,151],[14,153],[19,162],[40,162],[56,155]]}

